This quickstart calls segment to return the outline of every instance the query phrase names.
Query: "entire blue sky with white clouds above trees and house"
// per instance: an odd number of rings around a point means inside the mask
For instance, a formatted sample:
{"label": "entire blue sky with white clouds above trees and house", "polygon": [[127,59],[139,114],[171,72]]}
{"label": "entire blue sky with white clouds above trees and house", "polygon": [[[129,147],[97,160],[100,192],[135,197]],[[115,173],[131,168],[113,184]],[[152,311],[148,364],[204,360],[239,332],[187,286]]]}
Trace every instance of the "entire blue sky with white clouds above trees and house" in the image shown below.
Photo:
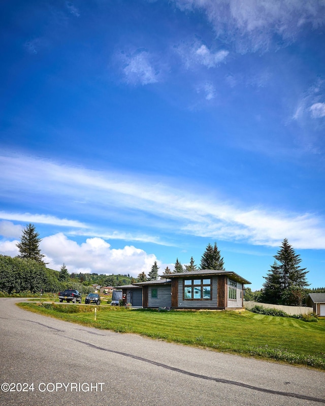
{"label": "entire blue sky with white clouds above trees and house", "polygon": [[217,242],[255,290],[287,238],[325,286],[323,2],[0,11],[0,253],[30,222],[49,267],[136,277]]}

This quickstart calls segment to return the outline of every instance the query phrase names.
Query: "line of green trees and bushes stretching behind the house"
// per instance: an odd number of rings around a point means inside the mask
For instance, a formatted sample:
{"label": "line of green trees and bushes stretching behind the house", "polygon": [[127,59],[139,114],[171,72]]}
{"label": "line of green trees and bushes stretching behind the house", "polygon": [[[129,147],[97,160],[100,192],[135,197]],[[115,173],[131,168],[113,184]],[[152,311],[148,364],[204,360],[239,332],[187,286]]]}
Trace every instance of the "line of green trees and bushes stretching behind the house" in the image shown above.
{"label": "line of green trees and bushes stretching behind the house", "polygon": [[[58,290],[73,288],[82,293],[88,293],[92,290],[92,284],[101,286],[121,286],[134,282],[144,282],[147,280],[158,279],[157,261],[151,267],[148,276],[142,272],[137,279],[129,275],[98,275],[98,274],[72,274],[70,275],[66,265],[63,263],[60,272],[46,268],[44,257],[39,248],[41,239],[35,226],[26,225],[22,231],[21,240],[17,244],[19,255],[16,258],[0,255],[0,291],[6,293],[30,291],[56,292]],[[301,306],[305,303],[309,292],[324,292],[324,288],[308,289],[309,286],[306,275],[306,268],[301,268],[300,255],[284,239],[277,254],[274,255],[275,261],[270,266],[263,289],[252,292],[249,287],[246,288],[246,300],[273,304],[293,304]],[[199,269],[224,270],[224,261],[221,257],[217,244],[214,246],[208,244],[202,258],[200,267],[198,267],[190,258],[188,265],[184,267],[176,259],[173,272],[167,266],[162,278],[172,273],[195,272]]]}

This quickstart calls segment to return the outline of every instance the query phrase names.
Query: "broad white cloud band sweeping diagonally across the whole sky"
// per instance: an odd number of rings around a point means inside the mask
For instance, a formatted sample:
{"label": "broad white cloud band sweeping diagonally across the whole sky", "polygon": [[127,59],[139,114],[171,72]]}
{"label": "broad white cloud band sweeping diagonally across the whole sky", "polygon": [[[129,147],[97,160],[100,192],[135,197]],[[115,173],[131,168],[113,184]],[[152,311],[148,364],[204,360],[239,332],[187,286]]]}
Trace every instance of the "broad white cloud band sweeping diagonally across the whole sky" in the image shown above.
{"label": "broad white cloud band sweeping diagonally across the whole sky", "polygon": [[[254,245],[278,246],[288,238],[295,248],[325,248],[325,222],[312,213],[287,213],[268,208],[235,207],[205,194],[188,193],[167,183],[140,176],[97,172],[85,168],[59,165],[23,156],[0,157],[8,168],[0,173],[2,183],[19,194],[38,193],[58,196],[66,210],[76,211],[76,200],[86,200],[87,216],[100,215],[109,223],[110,211],[122,214],[125,224],[143,230],[146,224],[158,233],[173,230],[183,234],[244,241]],[[171,180],[172,182],[172,180]],[[46,189],[51,185],[51,189]],[[1,193],[1,192],[0,192]],[[3,192],[4,193],[4,192]],[[18,193],[17,193],[18,195]],[[102,224],[102,226],[103,226]]]}

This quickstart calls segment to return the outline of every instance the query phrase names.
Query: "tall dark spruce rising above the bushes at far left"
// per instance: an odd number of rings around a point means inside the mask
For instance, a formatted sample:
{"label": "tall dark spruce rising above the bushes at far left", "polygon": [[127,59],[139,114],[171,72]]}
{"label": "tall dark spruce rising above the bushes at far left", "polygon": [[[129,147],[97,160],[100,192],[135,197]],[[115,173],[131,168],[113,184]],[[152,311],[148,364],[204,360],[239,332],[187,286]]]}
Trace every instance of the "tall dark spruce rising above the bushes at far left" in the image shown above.
{"label": "tall dark spruce rising above the bushes at far left", "polygon": [[36,231],[34,224],[27,224],[22,230],[20,243],[16,244],[19,249],[19,258],[34,259],[45,265],[43,258],[45,255],[41,254],[39,233]]}

